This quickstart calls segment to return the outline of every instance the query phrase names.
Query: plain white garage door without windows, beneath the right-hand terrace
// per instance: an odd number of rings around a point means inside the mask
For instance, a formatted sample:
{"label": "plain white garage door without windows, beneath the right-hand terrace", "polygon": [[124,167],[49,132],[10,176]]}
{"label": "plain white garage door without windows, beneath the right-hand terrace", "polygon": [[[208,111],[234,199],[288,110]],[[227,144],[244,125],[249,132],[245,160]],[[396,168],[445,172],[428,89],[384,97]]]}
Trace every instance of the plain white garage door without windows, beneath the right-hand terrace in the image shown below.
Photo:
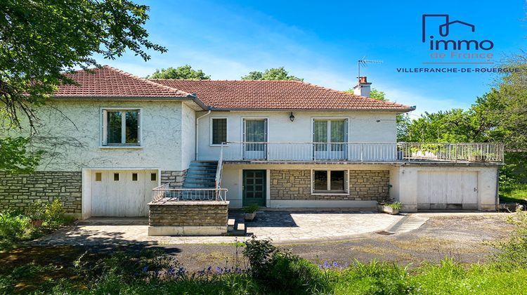
{"label": "plain white garage door without windows, beneath the right-hand terrace", "polygon": [[476,171],[419,171],[417,209],[477,209]]}

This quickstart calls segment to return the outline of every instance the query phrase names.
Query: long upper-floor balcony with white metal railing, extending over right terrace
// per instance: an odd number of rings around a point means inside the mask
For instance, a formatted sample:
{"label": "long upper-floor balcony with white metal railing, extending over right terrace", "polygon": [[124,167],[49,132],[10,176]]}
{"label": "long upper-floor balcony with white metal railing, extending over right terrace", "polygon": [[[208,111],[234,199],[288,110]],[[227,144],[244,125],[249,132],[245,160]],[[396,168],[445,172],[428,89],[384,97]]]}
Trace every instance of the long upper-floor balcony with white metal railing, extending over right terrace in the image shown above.
{"label": "long upper-floor balcony with white metal railing, extending over right terrace", "polygon": [[226,162],[503,162],[502,143],[228,142]]}

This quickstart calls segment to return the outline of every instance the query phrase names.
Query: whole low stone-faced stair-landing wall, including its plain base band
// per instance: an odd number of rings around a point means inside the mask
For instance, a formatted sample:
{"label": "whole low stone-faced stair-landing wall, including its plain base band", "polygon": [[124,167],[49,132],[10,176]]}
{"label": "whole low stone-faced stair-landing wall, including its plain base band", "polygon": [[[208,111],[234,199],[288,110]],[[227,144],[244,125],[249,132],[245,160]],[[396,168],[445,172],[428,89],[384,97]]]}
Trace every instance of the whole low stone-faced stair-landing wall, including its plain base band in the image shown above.
{"label": "whole low stone-faced stair-landing wall, including its plain base band", "polygon": [[228,204],[223,201],[152,202],[148,235],[223,235]]}

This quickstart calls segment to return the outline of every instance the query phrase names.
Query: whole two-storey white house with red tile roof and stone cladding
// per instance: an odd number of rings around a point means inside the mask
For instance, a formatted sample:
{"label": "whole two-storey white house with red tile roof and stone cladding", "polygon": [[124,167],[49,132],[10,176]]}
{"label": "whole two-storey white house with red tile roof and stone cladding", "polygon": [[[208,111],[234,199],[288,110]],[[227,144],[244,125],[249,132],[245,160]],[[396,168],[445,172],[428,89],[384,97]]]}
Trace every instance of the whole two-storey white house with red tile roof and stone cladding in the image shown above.
{"label": "whole two-storey white house with red tile roof and stone cladding", "polygon": [[79,85],[39,110],[47,156],[32,175],[0,174],[0,208],[59,197],[79,218],[148,216],[152,193],[230,208],[497,206],[502,145],[398,143],[396,116],[414,107],[368,98],[365,77],[351,94],[108,66],[69,75]]}

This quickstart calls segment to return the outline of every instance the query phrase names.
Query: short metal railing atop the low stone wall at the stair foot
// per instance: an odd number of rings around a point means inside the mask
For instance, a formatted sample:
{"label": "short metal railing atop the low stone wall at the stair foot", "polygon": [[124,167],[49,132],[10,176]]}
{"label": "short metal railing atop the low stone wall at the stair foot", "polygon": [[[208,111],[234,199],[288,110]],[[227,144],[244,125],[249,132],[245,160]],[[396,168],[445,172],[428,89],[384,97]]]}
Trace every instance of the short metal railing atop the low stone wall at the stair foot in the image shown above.
{"label": "short metal railing atop the low stone wall at the stair foot", "polygon": [[152,202],[225,201],[226,188],[169,188],[169,183],[152,189]]}

